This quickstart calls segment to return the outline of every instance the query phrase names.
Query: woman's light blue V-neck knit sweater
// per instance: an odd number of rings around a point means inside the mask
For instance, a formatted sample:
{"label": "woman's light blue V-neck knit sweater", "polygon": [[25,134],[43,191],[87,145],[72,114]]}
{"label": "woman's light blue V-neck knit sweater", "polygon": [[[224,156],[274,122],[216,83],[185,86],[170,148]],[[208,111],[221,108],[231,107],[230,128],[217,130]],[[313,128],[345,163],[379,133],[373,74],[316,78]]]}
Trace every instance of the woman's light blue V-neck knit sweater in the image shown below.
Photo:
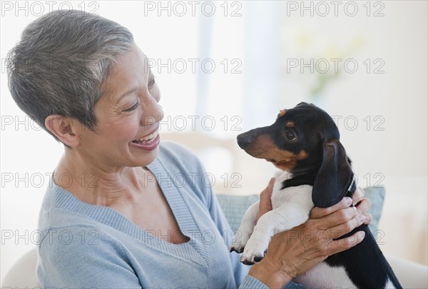
{"label": "woman's light blue V-neck knit sweater", "polygon": [[[204,170],[187,149],[162,143],[148,168],[188,243],[174,245],[106,206],[83,203],[52,181],[39,216],[37,273],[56,288],[267,288],[229,253],[230,229]],[[142,210],[144,208],[141,208]],[[297,288],[294,283],[287,288]]]}

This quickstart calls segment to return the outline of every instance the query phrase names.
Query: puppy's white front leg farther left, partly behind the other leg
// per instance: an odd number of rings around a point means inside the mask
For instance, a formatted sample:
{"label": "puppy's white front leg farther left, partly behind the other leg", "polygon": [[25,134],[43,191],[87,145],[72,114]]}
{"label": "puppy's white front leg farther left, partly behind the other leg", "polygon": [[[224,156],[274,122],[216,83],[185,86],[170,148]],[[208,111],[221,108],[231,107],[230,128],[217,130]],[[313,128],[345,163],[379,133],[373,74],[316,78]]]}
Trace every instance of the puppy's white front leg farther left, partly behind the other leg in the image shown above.
{"label": "puppy's white front leg farther left, partly behind the other leg", "polygon": [[235,251],[237,253],[242,253],[245,245],[250,238],[251,233],[253,233],[253,229],[255,226],[257,214],[259,211],[260,201],[253,203],[243,216],[243,220],[239,226],[238,231],[235,234],[235,239],[232,242],[232,246],[230,247],[230,252]]}

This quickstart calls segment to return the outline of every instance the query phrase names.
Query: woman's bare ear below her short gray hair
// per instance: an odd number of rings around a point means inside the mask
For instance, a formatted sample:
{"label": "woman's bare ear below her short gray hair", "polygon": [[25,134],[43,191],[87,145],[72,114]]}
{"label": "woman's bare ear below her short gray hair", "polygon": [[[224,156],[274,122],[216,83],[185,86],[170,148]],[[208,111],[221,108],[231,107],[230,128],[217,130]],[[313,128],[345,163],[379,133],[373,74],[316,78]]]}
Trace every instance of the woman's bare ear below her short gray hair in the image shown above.
{"label": "woman's bare ear below her short gray hair", "polygon": [[78,146],[80,138],[77,128],[80,127],[78,121],[73,118],[52,114],[45,119],[45,126],[66,146],[71,148]]}

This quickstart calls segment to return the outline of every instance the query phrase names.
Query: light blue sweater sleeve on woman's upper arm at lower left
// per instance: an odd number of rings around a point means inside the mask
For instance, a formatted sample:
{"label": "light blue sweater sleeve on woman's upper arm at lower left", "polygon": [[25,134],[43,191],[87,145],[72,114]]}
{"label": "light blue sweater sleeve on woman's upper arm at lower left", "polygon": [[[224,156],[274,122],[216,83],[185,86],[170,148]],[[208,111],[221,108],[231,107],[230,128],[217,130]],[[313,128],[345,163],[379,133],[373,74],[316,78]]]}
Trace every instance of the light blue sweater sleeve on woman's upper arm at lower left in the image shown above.
{"label": "light blue sweater sleeve on woman's upper arm at lower left", "polygon": [[39,254],[42,288],[141,288],[122,246],[99,229],[51,230]]}

